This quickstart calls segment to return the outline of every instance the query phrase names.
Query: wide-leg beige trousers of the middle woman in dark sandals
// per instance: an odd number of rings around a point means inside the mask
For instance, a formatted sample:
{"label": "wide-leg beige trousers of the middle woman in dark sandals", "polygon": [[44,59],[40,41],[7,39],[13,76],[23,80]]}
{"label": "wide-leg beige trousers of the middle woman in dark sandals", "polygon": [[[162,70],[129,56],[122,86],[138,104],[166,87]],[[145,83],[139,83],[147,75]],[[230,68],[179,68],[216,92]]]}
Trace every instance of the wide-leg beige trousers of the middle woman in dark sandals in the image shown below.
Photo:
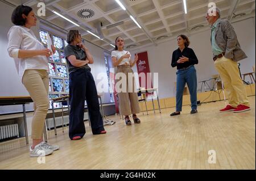
{"label": "wide-leg beige trousers of the middle woman in dark sandals", "polygon": [[118,92],[120,112],[125,116],[141,112],[139,108],[138,92],[134,91],[136,86],[133,75],[134,73],[130,65],[117,66],[115,86]]}

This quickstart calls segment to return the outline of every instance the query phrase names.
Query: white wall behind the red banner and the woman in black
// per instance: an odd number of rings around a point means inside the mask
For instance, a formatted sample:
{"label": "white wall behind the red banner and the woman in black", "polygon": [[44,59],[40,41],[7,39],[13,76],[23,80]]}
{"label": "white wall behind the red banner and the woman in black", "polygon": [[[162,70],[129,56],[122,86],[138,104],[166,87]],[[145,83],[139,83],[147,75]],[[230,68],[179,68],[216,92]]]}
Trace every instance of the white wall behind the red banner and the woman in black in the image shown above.
{"label": "white wall behind the red banner and the woman in black", "polygon": [[[254,18],[246,19],[232,24],[240,41],[241,48],[247,54],[245,60],[240,61],[241,73],[252,72],[255,64],[255,23]],[[197,64],[197,82],[212,78],[218,74],[214,69],[212,51],[210,46],[210,30],[189,36],[192,48],[199,64]],[[172,52],[177,49],[175,40],[170,40],[158,46],[145,47],[131,51],[131,54],[147,51],[151,73],[158,73],[159,77],[159,98],[173,97],[176,94],[174,82],[176,82],[176,68],[171,67]],[[136,66],[133,68],[137,72]],[[137,80],[138,83],[138,80]],[[212,83],[212,82],[210,82]],[[212,84],[211,84],[212,85]],[[201,83],[197,90],[200,90]]]}

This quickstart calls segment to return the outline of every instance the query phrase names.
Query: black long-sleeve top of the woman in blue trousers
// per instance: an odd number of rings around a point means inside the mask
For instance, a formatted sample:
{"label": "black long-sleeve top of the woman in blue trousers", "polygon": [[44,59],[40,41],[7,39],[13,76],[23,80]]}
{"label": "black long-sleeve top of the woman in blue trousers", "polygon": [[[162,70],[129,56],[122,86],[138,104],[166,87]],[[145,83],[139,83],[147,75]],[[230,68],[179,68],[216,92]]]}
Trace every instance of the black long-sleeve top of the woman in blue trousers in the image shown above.
{"label": "black long-sleeve top of the woman in blue trousers", "polygon": [[[183,64],[178,64],[177,61],[180,57],[187,57],[188,61],[184,62]],[[181,52],[180,48],[174,50],[172,53],[172,64],[171,66],[174,68],[177,66],[177,69],[187,68],[189,65],[195,65],[198,64],[198,60],[196,57],[195,52],[192,48],[185,47],[183,51]]]}

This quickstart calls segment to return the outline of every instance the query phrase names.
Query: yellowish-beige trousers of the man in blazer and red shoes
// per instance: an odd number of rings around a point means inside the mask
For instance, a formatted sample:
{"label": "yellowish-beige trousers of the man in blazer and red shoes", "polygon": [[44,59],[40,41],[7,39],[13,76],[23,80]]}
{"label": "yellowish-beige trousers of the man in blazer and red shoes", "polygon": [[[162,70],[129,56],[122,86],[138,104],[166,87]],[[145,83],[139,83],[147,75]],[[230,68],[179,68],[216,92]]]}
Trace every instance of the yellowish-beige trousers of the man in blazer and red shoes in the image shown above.
{"label": "yellowish-beige trousers of the man in blazer and red shoes", "polygon": [[245,86],[240,77],[237,62],[223,56],[214,61],[214,66],[218,70],[222,82],[224,83],[229,104],[232,107],[237,107],[238,104],[249,106]]}

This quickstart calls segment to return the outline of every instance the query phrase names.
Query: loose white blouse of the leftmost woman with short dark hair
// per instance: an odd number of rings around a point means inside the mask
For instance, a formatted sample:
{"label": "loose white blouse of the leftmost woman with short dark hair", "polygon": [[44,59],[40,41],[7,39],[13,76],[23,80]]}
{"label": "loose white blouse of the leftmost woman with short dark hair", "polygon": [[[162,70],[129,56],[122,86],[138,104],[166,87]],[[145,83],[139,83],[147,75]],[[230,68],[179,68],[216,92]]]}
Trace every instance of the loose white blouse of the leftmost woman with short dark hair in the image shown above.
{"label": "loose white blouse of the leftmost woman with short dark hair", "polygon": [[48,60],[46,56],[34,56],[28,58],[18,58],[19,49],[40,50],[44,45],[36,38],[29,28],[23,26],[13,26],[7,33],[7,51],[10,57],[14,58],[16,70],[22,80],[24,71],[27,69],[44,69],[49,72]]}

